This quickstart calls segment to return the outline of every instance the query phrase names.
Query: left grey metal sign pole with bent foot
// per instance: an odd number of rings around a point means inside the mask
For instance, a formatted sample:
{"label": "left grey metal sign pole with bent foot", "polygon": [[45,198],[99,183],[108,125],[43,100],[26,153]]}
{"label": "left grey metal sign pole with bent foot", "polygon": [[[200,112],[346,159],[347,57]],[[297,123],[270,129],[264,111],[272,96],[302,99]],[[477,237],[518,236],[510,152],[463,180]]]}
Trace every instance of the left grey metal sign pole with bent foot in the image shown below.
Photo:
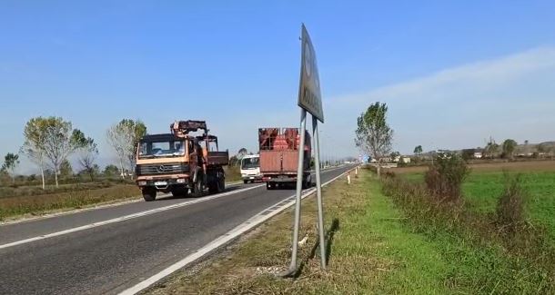
{"label": "left grey metal sign pole with bent foot", "polygon": [[301,109],[300,111],[300,143],[298,144],[298,168],[297,168],[297,193],[295,196],[295,223],[293,224],[293,245],[291,250],[291,263],[289,269],[286,270],[282,276],[290,277],[297,272],[297,252],[298,252],[298,230],[300,228],[300,205],[301,194],[303,190],[303,174],[305,170],[305,133],[307,130],[307,111]]}

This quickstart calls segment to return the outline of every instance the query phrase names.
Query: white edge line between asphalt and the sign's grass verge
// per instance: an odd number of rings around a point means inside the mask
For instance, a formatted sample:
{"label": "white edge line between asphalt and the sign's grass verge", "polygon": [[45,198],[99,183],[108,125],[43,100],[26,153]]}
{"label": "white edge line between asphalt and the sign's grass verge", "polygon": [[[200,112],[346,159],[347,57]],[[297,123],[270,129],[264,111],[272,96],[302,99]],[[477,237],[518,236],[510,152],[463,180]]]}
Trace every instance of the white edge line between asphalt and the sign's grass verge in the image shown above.
{"label": "white edge line between asphalt and the sign's grass verge", "polygon": [[[348,171],[350,171],[350,170],[352,170],[352,169],[349,169]],[[336,181],[338,178],[344,176],[346,173],[347,172],[341,173],[340,175],[333,178],[329,182],[323,183],[322,186],[326,186],[329,183]],[[309,195],[311,195],[314,192],[316,192],[316,188],[305,191],[305,192],[303,192],[301,198],[304,199],[304,198],[308,197]],[[278,204],[284,202],[284,201],[281,201],[281,202],[278,202],[277,204],[274,204],[274,205],[268,207],[267,209],[265,209],[263,211],[260,211],[259,213],[257,213],[257,215],[255,215],[255,216],[249,218],[247,221],[239,224],[233,230],[227,231],[227,233],[225,233],[224,235],[218,237],[214,241],[209,242],[207,245],[200,248],[196,252],[188,255],[183,260],[177,261],[176,263],[167,267],[165,270],[162,270],[162,271],[156,273],[154,276],[139,282],[135,286],[133,286],[133,287],[127,289],[127,290],[122,291],[121,293],[119,293],[119,295],[134,295],[134,294],[140,292],[141,290],[145,290],[146,288],[148,288],[148,287],[152,286],[154,283],[156,283],[156,281],[166,278],[168,275],[174,273],[177,270],[180,270],[180,269],[186,267],[188,264],[190,264],[194,261],[197,261],[197,259],[202,258],[203,256],[207,255],[211,251],[214,251],[217,248],[227,244],[229,241],[235,240],[241,234],[243,234],[247,231],[250,231],[251,229],[255,228],[260,223],[262,223],[264,221],[267,221],[268,219],[276,216],[279,212],[284,211],[284,210],[288,209],[289,207],[291,207],[292,205],[294,205],[295,204],[295,195],[293,195],[291,197],[288,197],[286,199],[286,201],[287,200],[291,200],[291,201],[277,207]],[[270,212],[267,213],[267,211],[270,211]]]}

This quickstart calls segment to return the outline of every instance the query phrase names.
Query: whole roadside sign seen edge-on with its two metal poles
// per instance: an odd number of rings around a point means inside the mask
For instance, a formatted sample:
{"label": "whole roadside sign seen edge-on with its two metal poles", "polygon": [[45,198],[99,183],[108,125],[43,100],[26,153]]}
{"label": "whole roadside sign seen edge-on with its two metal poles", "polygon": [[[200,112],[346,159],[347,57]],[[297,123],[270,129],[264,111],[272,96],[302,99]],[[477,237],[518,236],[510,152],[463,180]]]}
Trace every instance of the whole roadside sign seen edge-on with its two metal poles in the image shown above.
{"label": "whole roadside sign seen edge-on with its two metal poles", "polygon": [[320,180],[320,148],[318,139],[318,121],[324,123],[324,111],[320,93],[316,52],[310,41],[307,28],[302,25],[300,83],[298,87],[298,106],[300,111],[300,143],[298,147],[297,194],[295,203],[295,224],[293,228],[293,245],[289,269],[281,275],[289,277],[297,272],[298,230],[300,226],[301,193],[304,170],[305,130],[307,112],[312,114],[312,134],[314,136],[314,167],[316,169],[316,192],[318,202],[318,236],[320,248],[320,267],[326,269],[326,238],[324,236],[324,211],[322,207],[322,183]]}

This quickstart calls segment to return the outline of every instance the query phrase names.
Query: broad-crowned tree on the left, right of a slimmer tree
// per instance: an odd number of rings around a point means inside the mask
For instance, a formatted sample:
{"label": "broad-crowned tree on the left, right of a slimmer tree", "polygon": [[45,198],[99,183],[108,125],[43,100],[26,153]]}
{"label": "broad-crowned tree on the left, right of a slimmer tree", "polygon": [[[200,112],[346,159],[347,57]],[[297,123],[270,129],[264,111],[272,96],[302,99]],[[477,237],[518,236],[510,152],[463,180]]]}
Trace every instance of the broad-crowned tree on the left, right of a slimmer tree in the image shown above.
{"label": "broad-crowned tree on the left, right of a slimmer tree", "polygon": [[43,151],[54,170],[55,186],[58,187],[60,166],[79,147],[77,141],[79,131],[74,130],[71,122],[61,117],[47,117],[42,120],[45,121],[46,126]]}

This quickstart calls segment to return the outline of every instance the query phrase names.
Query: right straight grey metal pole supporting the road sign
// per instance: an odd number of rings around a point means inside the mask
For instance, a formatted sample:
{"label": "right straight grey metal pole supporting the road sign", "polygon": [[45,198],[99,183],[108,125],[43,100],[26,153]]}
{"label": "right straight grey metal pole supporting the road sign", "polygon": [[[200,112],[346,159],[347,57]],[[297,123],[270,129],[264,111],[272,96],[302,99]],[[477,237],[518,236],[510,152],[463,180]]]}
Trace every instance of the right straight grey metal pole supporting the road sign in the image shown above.
{"label": "right straight grey metal pole supporting the road sign", "polygon": [[314,167],[316,168],[316,200],[318,203],[318,236],[320,238],[320,268],[326,270],[326,237],[324,236],[324,209],[322,205],[322,181],[320,179],[320,143],[318,118],[312,115],[312,133],[314,136]]}

